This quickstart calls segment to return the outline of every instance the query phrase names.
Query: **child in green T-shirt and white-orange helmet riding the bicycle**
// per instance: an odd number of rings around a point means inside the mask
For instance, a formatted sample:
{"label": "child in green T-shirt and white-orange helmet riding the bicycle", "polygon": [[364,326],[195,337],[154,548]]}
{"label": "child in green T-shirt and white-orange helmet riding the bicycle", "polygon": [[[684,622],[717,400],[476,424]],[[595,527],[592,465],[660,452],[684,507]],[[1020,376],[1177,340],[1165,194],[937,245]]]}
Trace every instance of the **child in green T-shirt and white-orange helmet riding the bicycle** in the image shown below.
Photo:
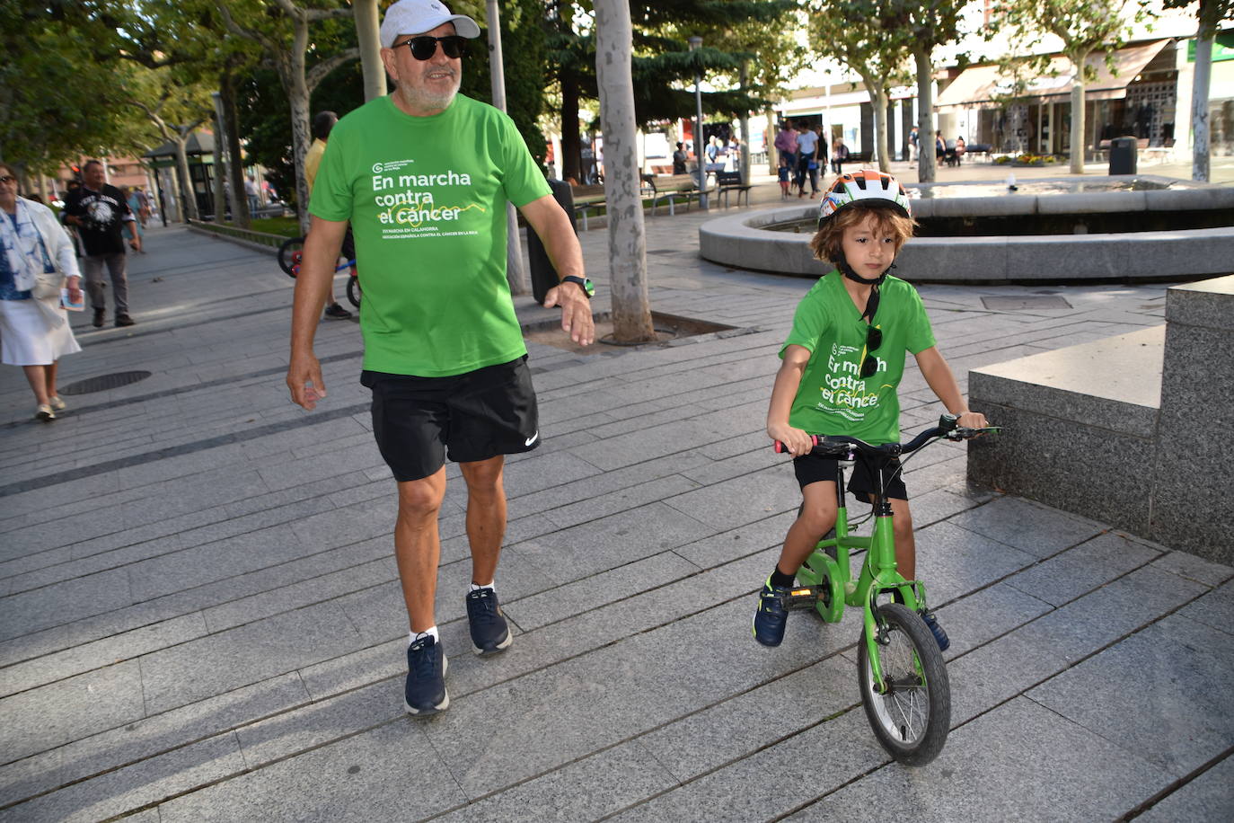
{"label": "child in green T-shirt and white-orange helmet riding the bicycle", "polygon": [[[754,614],[754,638],[772,647],[784,639],[789,616],[784,597],[797,570],[835,524],[837,460],[811,454],[811,434],[849,436],[874,445],[898,443],[897,386],[906,352],[913,353],[926,383],[959,426],[986,426],[983,415],[969,411],[955,375],[934,345],[917,290],[887,274],[916,226],[903,186],[874,169],[843,174],[824,195],[818,213],[818,232],[810,247],[835,269],[797,305],[768,408],[768,434],[793,455],[803,498]],[[893,515],[897,570],[913,580],[916,545],[900,464],[891,461],[879,470]],[[875,502],[879,485],[865,461],[858,460],[848,484],[854,496]],[[945,649],[946,633],[938,621],[928,613],[922,617]]]}

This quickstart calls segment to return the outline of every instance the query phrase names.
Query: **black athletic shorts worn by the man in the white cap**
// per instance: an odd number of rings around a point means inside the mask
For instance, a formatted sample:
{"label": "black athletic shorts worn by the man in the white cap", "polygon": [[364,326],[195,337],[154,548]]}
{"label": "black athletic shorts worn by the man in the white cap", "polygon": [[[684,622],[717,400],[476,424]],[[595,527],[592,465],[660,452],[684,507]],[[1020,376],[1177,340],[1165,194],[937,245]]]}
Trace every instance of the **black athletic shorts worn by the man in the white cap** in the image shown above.
{"label": "black athletic shorts worn by the man in the white cap", "polygon": [[539,413],[523,355],[449,378],[363,371],[373,390],[373,434],[381,457],[405,482],[445,463],[487,460],[539,445]]}

